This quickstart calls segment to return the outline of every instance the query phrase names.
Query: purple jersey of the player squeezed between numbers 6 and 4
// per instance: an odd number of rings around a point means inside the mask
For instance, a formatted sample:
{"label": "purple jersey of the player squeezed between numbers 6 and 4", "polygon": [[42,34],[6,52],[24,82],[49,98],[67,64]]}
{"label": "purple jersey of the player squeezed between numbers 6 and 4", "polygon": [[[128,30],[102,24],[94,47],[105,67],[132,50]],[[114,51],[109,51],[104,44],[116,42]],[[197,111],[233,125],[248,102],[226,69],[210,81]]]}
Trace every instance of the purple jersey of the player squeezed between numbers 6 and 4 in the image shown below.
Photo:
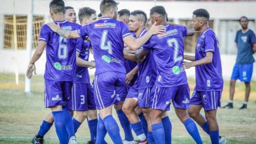
{"label": "purple jersey of the player squeezed between numbers 6 and 4", "polygon": [[[77,39],[77,44],[75,46],[77,52],[79,52],[79,58],[88,61],[89,60],[89,48],[90,42],[83,40],[81,38]],[[74,83],[90,83],[90,77],[88,72],[88,67],[76,66]]]}

